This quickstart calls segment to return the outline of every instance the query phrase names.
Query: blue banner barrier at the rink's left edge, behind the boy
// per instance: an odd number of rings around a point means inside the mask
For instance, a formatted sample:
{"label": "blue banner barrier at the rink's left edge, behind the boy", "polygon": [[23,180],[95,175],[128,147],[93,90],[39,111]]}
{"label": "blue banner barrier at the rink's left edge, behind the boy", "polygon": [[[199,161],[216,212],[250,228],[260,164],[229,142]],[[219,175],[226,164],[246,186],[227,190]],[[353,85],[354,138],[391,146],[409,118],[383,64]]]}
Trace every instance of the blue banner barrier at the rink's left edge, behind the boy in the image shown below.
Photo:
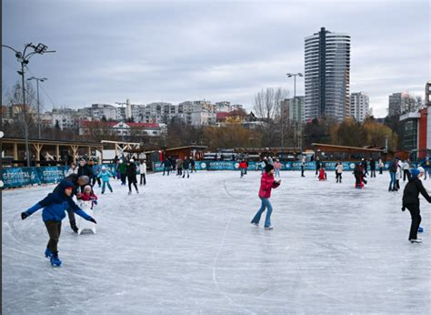
{"label": "blue banner barrier at the rink's left edge, behind the boy", "polygon": [[[105,165],[105,164],[104,164]],[[105,165],[115,171],[114,165]],[[63,178],[69,167],[34,167],[34,168],[2,168],[2,188],[20,188],[25,186],[56,184]]]}

